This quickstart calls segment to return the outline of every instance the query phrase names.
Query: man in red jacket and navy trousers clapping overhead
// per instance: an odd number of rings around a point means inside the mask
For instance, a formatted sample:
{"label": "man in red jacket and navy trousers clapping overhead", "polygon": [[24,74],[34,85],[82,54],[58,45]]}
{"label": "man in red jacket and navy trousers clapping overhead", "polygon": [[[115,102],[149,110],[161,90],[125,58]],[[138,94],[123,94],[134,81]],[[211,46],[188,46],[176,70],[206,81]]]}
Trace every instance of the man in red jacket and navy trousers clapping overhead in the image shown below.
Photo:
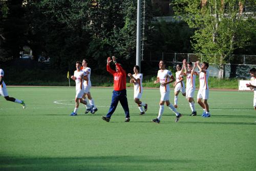
{"label": "man in red jacket and navy trousers clapping overhead", "polygon": [[[116,70],[111,69],[110,63],[113,61],[116,65]],[[102,116],[102,119],[109,122],[111,115],[116,110],[116,107],[118,105],[118,102],[120,101],[124,113],[125,113],[125,122],[130,121],[130,113],[129,113],[129,107],[126,97],[126,72],[122,68],[122,66],[116,62],[116,58],[113,56],[112,60],[110,57],[107,59],[106,64],[106,70],[110,72],[114,76],[114,91],[112,94],[112,102],[110,105],[110,109],[108,114],[106,116]]]}

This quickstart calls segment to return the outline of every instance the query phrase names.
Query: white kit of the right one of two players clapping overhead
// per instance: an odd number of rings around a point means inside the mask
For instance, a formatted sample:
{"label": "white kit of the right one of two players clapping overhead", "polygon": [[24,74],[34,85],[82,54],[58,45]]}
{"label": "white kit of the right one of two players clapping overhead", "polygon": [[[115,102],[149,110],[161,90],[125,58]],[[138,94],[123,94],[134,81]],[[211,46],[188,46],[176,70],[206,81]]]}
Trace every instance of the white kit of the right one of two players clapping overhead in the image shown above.
{"label": "white kit of the right one of two players clapping overhead", "polygon": [[208,79],[209,79],[209,70],[205,70],[205,73],[200,72],[199,74],[200,85],[199,85],[199,91],[197,94],[197,99],[207,100],[209,98]]}

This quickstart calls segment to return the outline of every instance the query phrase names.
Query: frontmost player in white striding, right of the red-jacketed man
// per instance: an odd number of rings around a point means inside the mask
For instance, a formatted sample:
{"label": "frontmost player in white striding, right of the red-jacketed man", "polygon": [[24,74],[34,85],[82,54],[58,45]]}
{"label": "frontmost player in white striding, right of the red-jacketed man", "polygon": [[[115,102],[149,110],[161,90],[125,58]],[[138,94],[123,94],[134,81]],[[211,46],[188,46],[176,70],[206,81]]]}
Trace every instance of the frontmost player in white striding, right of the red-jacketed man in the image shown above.
{"label": "frontmost player in white striding, right of the red-jacketed man", "polygon": [[159,69],[158,73],[157,73],[157,80],[154,82],[155,84],[160,83],[160,93],[161,93],[161,99],[159,102],[159,113],[158,113],[158,117],[155,119],[152,119],[152,121],[154,123],[160,123],[162,114],[163,114],[163,110],[164,110],[164,103],[166,104],[166,106],[169,107],[170,110],[172,110],[175,114],[176,114],[176,123],[177,121],[179,121],[180,117],[182,116],[177,110],[176,108],[170,104],[169,102],[169,94],[170,94],[170,87],[169,84],[174,82],[174,77],[171,71],[165,69],[165,63],[164,61],[160,61],[159,62]]}

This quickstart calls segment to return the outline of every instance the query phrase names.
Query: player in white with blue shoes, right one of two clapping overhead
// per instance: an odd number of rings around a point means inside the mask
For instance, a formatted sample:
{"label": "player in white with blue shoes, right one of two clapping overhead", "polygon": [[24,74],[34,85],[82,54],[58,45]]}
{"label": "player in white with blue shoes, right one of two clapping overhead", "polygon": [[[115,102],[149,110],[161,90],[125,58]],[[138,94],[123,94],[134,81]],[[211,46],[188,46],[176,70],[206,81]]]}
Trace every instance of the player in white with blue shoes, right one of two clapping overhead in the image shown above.
{"label": "player in white with blue shoes, right one of two clapping overhead", "polygon": [[203,62],[202,65],[200,66],[199,61],[197,61],[196,64],[200,71],[200,74],[199,74],[200,86],[197,94],[197,102],[203,108],[202,116],[210,117],[209,105],[207,103],[207,100],[209,98],[209,86],[208,86],[209,64],[207,62]]}

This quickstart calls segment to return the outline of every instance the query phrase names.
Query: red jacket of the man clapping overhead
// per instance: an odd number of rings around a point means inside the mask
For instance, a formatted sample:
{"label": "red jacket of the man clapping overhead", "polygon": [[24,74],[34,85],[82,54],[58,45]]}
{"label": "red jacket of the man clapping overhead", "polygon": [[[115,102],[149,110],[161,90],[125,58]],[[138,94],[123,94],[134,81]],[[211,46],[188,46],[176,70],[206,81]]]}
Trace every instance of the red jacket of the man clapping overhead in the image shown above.
{"label": "red jacket of the man clapping overhead", "polygon": [[114,76],[114,90],[121,91],[126,89],[126,72],[125,70],[116,63],[116,66],[119,68],[119,72],[111,69],[110,65],[106,65],[106,70]]}

